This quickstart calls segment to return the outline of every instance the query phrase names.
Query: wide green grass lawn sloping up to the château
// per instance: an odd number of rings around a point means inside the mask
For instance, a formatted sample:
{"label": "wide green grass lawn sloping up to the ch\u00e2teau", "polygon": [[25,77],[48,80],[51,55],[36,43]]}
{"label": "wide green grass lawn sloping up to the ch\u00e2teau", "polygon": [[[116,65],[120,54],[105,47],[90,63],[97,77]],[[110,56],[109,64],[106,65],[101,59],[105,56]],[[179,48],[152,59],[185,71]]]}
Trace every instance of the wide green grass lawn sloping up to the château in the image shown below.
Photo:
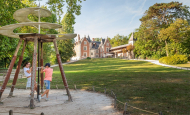
{"label": "wide green grass lawn sloping up to the ch\u00e2teau", "polygon": [[[103,93],[113,89],[118,100],[141,109],[167,115],[190,114],[190,71],[155,65],[145,61],[112,58],[81,60],[64,65],[70,88]],[[2,82],[0,83],[2,84]],[[54,68],[51,88],[63,88],[58,67]],[[11,81],[8,86],[11,85]],[[17,88],[25,88],[26,79],[19,79]],[[119,104],[122,110],[123,105]],[[128,108],[131,114],[147,114]]]}

